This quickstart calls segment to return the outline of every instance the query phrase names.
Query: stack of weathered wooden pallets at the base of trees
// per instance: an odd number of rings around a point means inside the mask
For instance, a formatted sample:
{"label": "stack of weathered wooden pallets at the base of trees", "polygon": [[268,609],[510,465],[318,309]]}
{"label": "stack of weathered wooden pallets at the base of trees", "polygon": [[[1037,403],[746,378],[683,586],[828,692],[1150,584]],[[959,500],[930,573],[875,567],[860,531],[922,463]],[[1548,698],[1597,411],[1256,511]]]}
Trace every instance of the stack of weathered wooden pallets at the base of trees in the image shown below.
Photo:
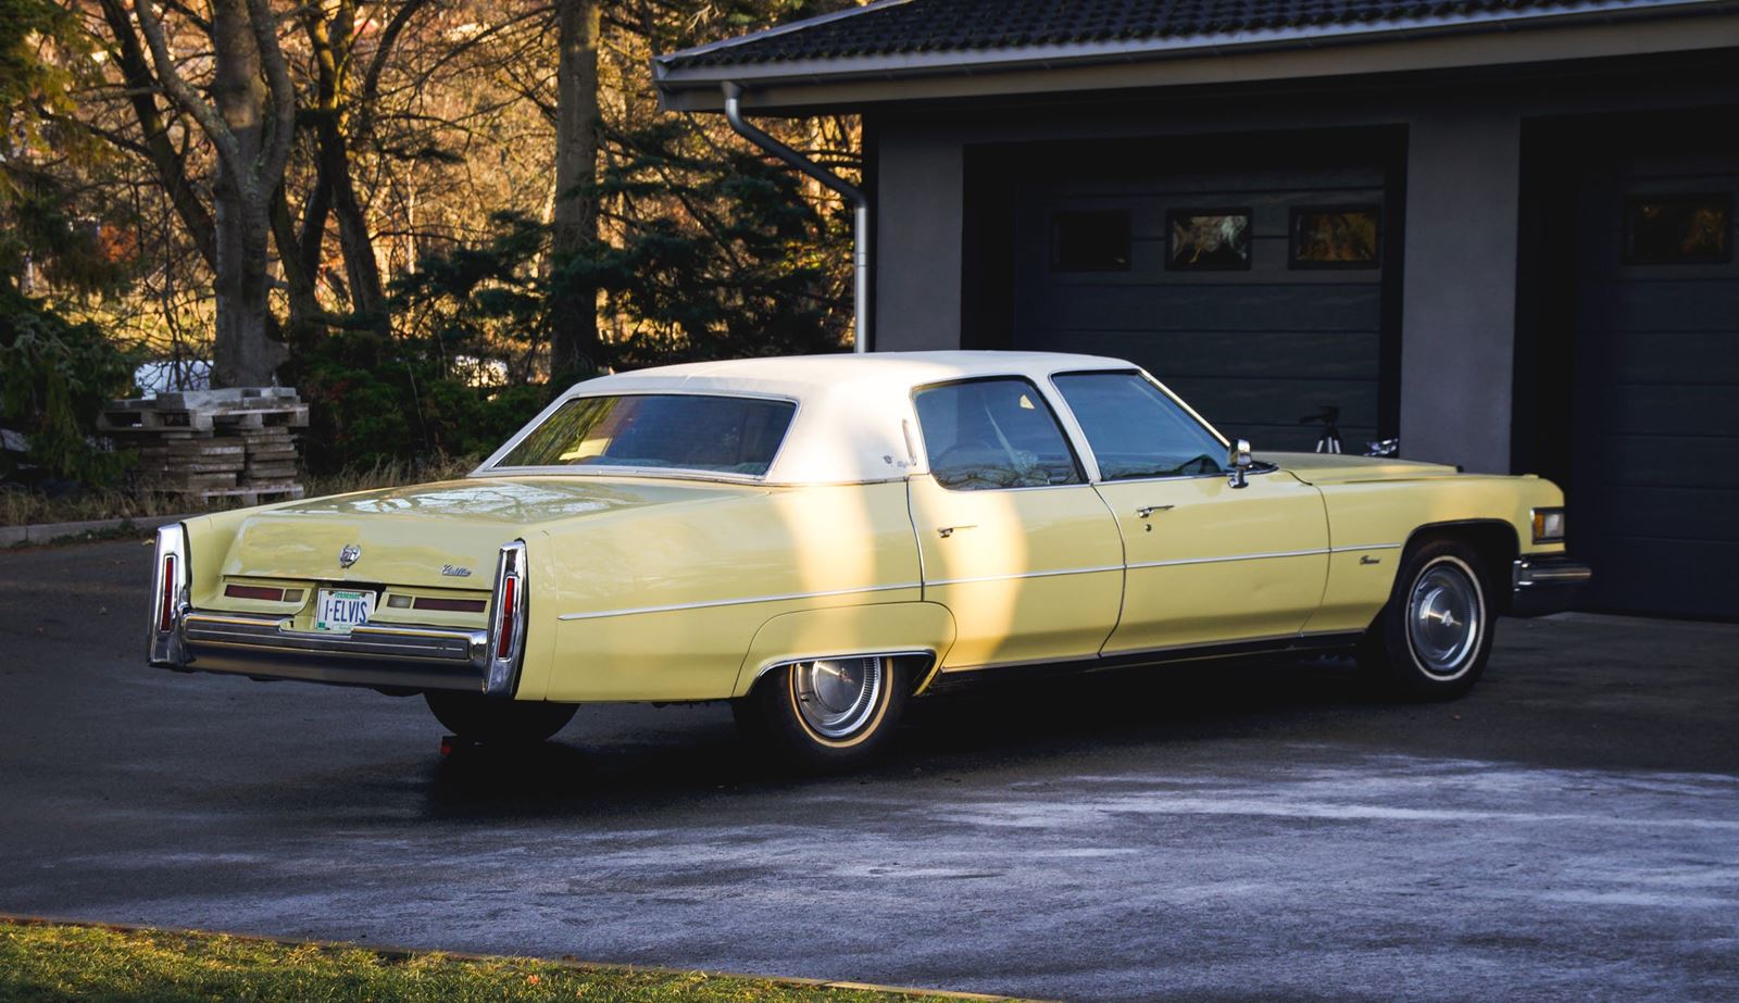
{"label": "stack of weathered wooden pallets at the base of trees", "polygon": [[308,428],[308,405],[289,388],[117,400],[97,421],[97,431],[137,448],[141,488],[240,504],[303,497],[296,482],[301,428]]}

